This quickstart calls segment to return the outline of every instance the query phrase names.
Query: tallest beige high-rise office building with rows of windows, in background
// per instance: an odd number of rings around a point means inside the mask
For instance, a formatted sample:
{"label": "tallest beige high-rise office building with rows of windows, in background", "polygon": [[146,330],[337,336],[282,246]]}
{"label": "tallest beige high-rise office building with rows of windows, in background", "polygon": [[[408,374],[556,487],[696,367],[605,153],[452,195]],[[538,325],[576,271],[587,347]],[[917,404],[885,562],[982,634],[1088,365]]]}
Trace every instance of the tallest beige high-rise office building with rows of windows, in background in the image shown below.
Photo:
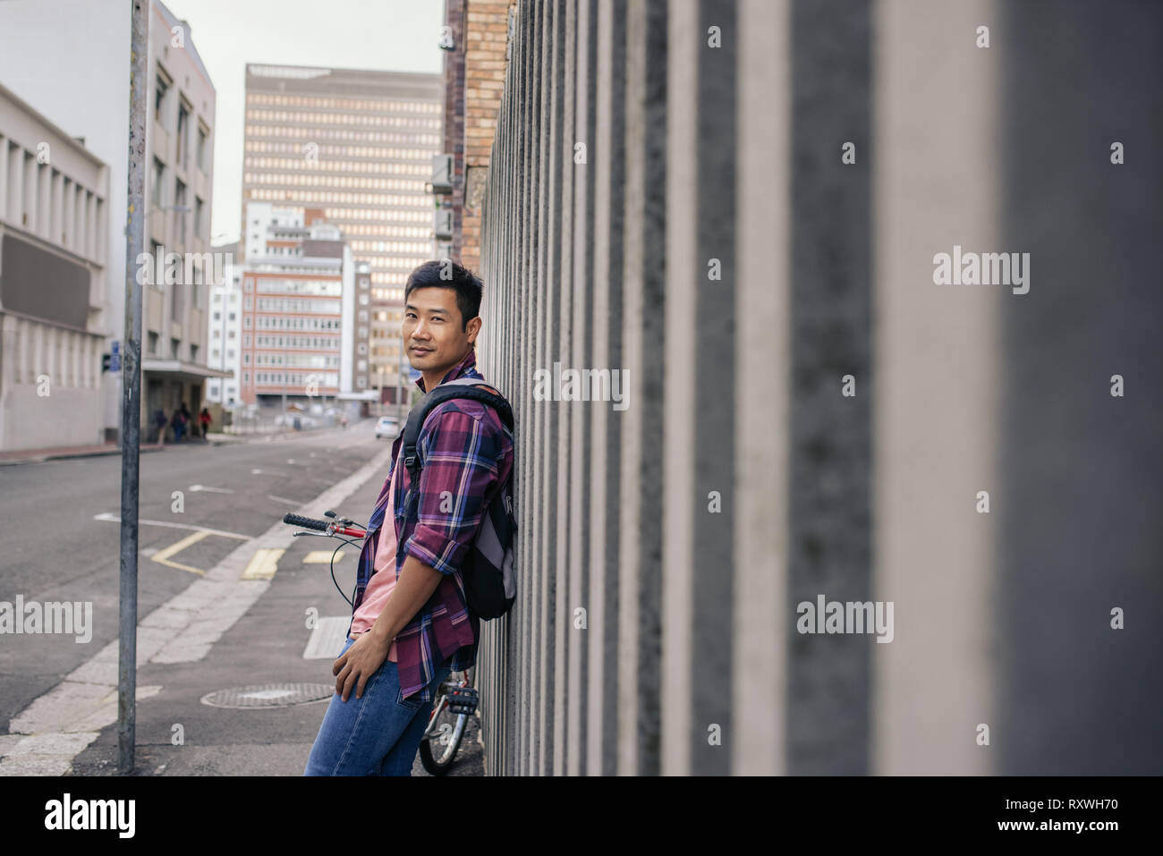
{"label": "tallest beige high-rise office building with rows of windows, in background", "polygon": [[[368,383],[383,401],[395,400],[401,365],[408,368],[400,348],[405,280],[431,258],[424,185],[443,144],[443,101],[440,74],[247,66],[243,206],[317,208],[368,262]],[[243,223],[243,241],[251,235]]]}

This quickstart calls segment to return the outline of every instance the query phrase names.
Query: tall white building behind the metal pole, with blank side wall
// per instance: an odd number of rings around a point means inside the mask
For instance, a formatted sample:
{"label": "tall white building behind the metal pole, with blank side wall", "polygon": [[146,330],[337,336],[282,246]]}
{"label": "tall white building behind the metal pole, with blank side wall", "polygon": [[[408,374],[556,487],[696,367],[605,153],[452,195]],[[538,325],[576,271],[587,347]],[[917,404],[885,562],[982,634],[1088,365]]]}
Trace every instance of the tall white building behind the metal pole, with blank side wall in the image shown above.
{"label": "tall white building behind the metal pole, with blank side wall", "polygon": [[[0,2],[0,84],[84,137],[85,148],[108,164],[108,300],[97,323],[108,331],[109,351],[124,342],[130,3],[8,0]],[[226,374],[209,368],[206,347],[209,287],[223,268],[209,252],[215,91],[190,26],[158,0],[150,5],[147,67],[144,251],[178,254],[184,276],[143,286],[143,437],[156,409],[171,414],[185,402],[197,413],[206,380]],[[106,372],[101,383],[105,434],[112,438],[121,420],[121,374]]]}

